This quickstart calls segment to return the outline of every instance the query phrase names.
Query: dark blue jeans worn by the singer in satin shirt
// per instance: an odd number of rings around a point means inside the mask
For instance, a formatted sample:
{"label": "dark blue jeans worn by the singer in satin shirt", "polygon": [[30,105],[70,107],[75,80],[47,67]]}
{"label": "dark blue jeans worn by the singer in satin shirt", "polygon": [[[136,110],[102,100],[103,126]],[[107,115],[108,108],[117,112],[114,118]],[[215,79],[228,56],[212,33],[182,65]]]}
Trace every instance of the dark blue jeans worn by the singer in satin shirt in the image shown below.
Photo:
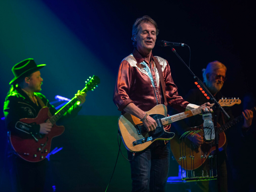
{"label": "dark blue jeans worn by the singer in satin shirt", "polygon": [[[155,141],[146,150],[135,153],[131,164],[132,192],[164,192],[170,164],[170,143]],[[129,159],[132,152],[128,151]]]}

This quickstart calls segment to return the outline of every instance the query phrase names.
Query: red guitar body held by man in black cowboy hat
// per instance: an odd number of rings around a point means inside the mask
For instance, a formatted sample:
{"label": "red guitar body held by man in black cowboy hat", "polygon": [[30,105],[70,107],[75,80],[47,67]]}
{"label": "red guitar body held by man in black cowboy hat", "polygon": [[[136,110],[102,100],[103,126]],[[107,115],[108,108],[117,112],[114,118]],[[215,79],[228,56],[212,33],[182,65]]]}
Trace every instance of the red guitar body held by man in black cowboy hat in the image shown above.
{"label": "red guitar body held by man in black cowboy hat", "polygon": [[[50,118],[48,112],[49,108],[44,107],[39,111],[36,118],[24,118],[20,119],[20,121],[28,124],[41,124]],[[13,149],[22,159],[29,162],[39,162],[45,159],[50,152],[52,138],[61,135],[64,129],[64,126],[54,124],[48,134],[39,133],[34,135],[38,141],[32,135],[29,135],[29,138],[22,138],[11,133],[10,141]]]}

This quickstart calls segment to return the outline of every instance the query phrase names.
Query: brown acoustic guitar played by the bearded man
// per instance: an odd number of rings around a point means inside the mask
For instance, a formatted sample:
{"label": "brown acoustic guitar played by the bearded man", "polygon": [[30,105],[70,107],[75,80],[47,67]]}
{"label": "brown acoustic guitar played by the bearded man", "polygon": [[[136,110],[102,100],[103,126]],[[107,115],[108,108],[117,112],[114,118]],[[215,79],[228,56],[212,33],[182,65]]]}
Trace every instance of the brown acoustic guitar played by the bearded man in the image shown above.
{"label": "brown acoustic guitar played by the bearded man", "polygon": [[[255,112],[256,107],[250,109]],[[217,130],[219,133],[219,149],[222,151],[226,147],[226,135],[224,133],[225,130],[230,128],[231,126],[237,124],[239,121],[243,120],[244,116],[240,115],[229,121],[228,123],[220,126],[218,124]],[[203,125],[201,125],[202,127]],[[196,131],[196,130],[194,130]],[[200,147],[196,147],[192,141],[189,139],[179,139],[178,137],[173,138],[171,143],[171,150],[176,161],[182,166],[182,168],[186,170],[194,170],[200,167],[206,161],[207,157],[216,150],[214,141],[204,141],[203,130],[199,130],[198,134],[202,138],[202,145]],[[193,157],[193,158],[191,158]],[[186,162],[187,161],[187,162]]]}

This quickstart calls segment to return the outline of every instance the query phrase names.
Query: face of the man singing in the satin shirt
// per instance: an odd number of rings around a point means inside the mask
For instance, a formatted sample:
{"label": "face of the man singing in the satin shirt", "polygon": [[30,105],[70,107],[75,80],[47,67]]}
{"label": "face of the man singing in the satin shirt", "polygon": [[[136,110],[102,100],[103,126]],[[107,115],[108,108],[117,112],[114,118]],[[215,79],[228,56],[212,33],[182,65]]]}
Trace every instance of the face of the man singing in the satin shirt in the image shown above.
{"label": "face of the man singing in the satin shirt", "polygon": [[151,51],[156,43],[156,27],[151,23],[140,23],[138,29],[134,37],[138,51]]}

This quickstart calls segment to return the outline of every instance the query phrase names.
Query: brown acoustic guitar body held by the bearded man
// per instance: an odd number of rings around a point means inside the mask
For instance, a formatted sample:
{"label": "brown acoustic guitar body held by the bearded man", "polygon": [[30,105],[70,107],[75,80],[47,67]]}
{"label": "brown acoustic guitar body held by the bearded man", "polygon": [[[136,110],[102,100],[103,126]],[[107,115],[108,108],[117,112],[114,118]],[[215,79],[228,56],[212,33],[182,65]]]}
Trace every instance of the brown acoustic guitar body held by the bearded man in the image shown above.
{"label": "brown acoustic guitar body held by the bearded man", "polygon": [[[200,135],[204,138],[203,134]],[[188,138],[180,140],[179,137],[174,137],[170,143],[174,158],[185,170],[197,169],[206,161],[206,158],[208,158],[210,153],[216,150],[215,140],[205,142],[203,139],[202,145],[199,148],[196,148]],[[225,147],[225,143],[226,135],[224,132],[221,132],[219,135],[220,151]],[[194,159],[190,158],[190,156],[194,156]],[[204,156],[204,158],[201,158],[201,156]],[[184,157],[186,157],[185,160]]]}

